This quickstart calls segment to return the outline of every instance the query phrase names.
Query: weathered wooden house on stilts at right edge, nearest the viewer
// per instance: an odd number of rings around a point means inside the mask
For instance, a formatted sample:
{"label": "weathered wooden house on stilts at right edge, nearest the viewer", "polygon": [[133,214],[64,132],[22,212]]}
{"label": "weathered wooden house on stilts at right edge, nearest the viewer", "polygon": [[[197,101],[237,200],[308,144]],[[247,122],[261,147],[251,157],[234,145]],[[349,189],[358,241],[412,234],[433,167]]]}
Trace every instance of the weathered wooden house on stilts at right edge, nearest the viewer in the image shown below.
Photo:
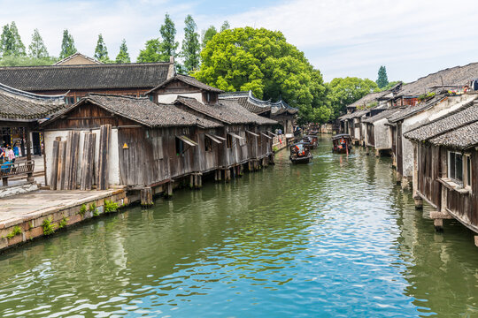
{"label": "weathered wooden house on stilts at right edge, nearest the viewer", "polygon": [[434,208],[436,227],[455,218],[478,233],[477,136],[478,102],[405,133],[413,145],[413,195]]}

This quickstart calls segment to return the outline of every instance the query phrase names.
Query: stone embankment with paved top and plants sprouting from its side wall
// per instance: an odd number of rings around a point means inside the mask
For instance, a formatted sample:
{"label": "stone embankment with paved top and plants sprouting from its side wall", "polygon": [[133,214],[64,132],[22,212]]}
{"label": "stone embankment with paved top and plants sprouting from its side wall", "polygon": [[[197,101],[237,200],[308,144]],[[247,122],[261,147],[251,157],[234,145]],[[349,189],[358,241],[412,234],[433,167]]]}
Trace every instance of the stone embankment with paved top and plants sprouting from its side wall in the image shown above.
{"label": "stone embankment with paved top and plants sprouting from its side wall", "polygon": [[50,191],[2,199],[0,251],[128,204],[126,189]]}

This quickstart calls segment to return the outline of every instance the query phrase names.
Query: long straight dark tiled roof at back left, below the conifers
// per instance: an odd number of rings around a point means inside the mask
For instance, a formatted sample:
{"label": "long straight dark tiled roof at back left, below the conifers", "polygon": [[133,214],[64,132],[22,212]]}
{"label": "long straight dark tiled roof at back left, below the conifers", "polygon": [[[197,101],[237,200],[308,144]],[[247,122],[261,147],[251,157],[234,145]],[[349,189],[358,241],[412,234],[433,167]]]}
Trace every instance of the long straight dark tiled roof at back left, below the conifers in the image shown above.
{"label": "long straight dark tiled roof at back left, below the conifers", "polygon": [[0,83],[26,91],[156,87],[169,63],[0,67]]}

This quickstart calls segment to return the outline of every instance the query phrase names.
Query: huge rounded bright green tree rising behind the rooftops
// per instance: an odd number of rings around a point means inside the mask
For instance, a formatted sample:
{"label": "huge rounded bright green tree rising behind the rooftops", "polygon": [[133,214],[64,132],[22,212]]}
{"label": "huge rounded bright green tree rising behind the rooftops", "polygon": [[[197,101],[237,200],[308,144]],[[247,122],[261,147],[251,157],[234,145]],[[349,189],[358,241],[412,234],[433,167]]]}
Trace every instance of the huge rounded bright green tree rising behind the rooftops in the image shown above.
{"label": "huge rounded bright green tree rising behind the rooftops", "polygon": [[197,79],[225,91],[252,90],[258,98],[283,98],[301,122],[326,122],[331,114],[322,75],[281,32],[235,28],[216,34],[201,51]]}

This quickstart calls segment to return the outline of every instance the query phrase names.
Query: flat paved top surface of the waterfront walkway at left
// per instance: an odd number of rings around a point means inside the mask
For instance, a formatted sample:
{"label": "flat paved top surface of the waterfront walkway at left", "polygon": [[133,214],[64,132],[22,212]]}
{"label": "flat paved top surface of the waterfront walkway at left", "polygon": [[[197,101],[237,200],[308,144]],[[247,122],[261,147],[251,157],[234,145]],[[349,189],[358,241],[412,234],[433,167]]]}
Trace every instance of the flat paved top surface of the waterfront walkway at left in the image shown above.
{"label": "flat paved top surface of the waterfront walkway at left", "polygon": [[39,190],[34,193],[0,199],[0,229],[37,216],[46,216],[65,208],[71,208],[83,202],[95,201],[115,192],[118,192],[118,189],[104,191]]}

